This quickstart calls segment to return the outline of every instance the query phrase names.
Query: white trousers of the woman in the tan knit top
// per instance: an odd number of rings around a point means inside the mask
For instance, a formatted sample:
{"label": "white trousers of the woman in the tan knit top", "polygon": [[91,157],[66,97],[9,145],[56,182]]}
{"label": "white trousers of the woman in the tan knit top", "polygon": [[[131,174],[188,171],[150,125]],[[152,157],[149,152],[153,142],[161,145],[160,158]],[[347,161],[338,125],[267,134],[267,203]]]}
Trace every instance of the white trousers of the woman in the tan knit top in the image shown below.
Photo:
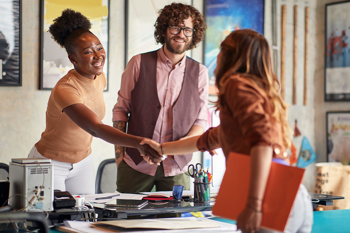
{"label": "white trousers of the woman in the tan knit top", "polygon": [[[28,158],[44,158],[33,146]],[[51,160],[54,164],[54,189],[68,191],[72,195],[95,193],[95,172],[90,154],[77,163]]]}

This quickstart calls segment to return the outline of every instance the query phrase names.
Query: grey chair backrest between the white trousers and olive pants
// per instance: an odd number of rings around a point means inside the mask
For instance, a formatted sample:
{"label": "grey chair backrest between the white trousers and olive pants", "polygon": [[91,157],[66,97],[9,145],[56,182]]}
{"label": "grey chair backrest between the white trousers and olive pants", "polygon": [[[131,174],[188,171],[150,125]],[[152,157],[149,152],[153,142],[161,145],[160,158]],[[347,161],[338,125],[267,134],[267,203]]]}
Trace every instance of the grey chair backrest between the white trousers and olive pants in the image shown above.
{"label": "grey chair backrest between the white trousers and olive pants", "polygon": [[115,192],[117,190],[117,164],[114,159],[106,159],[98,166],[95,192]]}

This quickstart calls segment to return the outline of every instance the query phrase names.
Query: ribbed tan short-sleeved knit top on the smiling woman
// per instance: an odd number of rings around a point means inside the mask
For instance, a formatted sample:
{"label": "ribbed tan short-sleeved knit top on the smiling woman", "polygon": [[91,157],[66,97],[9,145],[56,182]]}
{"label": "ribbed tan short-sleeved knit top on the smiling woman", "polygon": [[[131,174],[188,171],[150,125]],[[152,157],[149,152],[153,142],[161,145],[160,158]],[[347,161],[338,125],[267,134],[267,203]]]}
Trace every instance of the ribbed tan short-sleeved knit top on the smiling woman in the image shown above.
{"label": "ribbed tan short-sleeved knit top on the smiling woman", "polygon": [[46,110],[46,128],[35,144],[45,158],[77,163],[91,153],[92,136],[75,124],[62,110],[82,103],[101,120],[106,114],[103,90],[107,85],[104,73],[94,80],[70,70],[51,91]]}

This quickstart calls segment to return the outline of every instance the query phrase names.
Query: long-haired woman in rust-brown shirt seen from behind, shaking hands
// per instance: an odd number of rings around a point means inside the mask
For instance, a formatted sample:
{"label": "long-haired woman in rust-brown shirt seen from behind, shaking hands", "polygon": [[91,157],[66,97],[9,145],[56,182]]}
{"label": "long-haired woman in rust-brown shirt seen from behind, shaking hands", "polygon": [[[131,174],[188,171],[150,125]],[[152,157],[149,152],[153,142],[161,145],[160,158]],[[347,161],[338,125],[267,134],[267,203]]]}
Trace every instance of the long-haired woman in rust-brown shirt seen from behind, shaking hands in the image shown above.
{"label": "long-haired woman in rust-brown shirt seen from behind, shaking hands", "polygon": [[[264,197],[271,161],[289,165],[290,147],[287,106],[278,90],[279,82],[266,39],[258,32],[243,29],[231,32],[221,43],[215,70],[219,90],[216,108],[220,125],[202,136],[157,144],[145,139],[162,154],[184,154],[222,147],[251,156],[248,201],[237,227],[243,232],[271,232],[260,229]],[[144,159],[148,159],[144,156]],[[313,211],[309,194],[300,185],[285,232],[311,232]]]}

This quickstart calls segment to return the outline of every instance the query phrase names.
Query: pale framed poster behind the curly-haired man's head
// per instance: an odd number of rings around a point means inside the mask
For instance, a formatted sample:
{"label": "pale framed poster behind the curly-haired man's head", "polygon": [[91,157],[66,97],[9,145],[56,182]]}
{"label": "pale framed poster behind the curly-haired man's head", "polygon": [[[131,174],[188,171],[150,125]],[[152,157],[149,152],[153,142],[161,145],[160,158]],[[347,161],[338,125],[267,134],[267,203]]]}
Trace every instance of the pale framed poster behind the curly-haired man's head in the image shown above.
{"label": "pale framed poster behind the curly-haired man's head", "polygon": [[[173,0],[125,0],[125,66],[135,55],[157,50],[162,47],[154,38],[154,23],[158,11],[173,3]],[[191,5],[191,1],[181,1]],[[186,52],[190,55],[190,51]]]}

